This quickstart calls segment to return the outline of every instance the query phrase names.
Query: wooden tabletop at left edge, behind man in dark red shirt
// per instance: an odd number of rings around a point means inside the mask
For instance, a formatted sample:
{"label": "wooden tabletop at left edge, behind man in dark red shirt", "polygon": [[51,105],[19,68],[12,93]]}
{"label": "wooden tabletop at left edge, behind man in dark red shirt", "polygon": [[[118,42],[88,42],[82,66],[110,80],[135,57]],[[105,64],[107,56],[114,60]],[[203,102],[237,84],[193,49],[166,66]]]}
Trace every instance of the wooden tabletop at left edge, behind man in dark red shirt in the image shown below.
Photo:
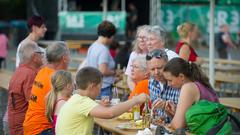
{"label": "wooden tabletop at left edge, behind man in dark red shirt", "polygon": [[8,83],[12,77],[13,72],[8,70],[0,70],[0,87],[8,89]]}

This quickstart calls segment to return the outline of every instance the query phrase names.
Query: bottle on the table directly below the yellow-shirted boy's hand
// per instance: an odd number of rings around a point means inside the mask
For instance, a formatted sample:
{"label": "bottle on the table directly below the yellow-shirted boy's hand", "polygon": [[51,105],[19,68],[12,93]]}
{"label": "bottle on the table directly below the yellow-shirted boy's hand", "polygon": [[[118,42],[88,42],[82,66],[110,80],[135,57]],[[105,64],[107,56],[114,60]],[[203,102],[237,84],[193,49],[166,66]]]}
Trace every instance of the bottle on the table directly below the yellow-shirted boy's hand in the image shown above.
{"label": "bottle on the table directly below the yellow-shirted boy's hand", "polygon": [[151,117],[151,111],[148,106],[148,101],[145,102],[145,110],[143,111],[143,126],[144,128],[150,128],[150,118]]}

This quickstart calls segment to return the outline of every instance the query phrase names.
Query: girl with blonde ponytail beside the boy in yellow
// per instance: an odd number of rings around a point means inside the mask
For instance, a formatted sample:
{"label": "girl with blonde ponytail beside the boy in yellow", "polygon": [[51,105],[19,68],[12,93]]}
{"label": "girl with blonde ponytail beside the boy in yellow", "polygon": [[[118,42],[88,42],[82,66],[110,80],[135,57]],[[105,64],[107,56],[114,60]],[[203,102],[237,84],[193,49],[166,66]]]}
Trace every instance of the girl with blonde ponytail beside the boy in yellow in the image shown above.
{"label": "girl with blonde ponytail beside the boy in yellow", "polygon": [[51,84],[52,89],[47,95],[46,115],[49,122],[52,123],[53,132],[55,133],[57,115],[73,92],[72,75],[67,71],[59,70],[53,74]]}

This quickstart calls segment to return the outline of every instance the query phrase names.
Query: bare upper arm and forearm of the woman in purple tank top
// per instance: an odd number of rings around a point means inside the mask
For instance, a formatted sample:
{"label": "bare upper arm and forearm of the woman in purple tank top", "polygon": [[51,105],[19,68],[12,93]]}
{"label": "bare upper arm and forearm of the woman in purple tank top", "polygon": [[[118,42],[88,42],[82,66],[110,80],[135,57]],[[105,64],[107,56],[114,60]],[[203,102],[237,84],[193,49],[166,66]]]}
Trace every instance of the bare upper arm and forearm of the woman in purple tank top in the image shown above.
{"label": "bare upper arm and forearm of the woman in purple tank top", "polygon": [[199,100],[200,93],[194,83],[188,83],[182,86],[178,100],[177,110],[171,122],[174,129],[186,126],[185,113],[192,104]]}

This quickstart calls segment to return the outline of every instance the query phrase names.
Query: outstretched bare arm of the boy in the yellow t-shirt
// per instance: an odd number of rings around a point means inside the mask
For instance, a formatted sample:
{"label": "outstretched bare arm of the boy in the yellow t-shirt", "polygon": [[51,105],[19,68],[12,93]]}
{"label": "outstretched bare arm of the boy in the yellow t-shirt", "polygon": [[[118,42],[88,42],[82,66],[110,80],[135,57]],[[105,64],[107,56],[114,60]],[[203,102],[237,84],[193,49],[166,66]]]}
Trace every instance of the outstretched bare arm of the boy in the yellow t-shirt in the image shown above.
{"label": "outstretched bare arm of the boy in the yellow t-shirt", "polygon": [[133,99],[127,100],[126,102],[117,104],[112,107],[104,107],[104,106],[98,105],[90,111],[90,115],[92,117],[103,118],[103,119],[114,118],[128,111],[134,105],[144,103],[146,100],[148,100],[148,98],[149,97],[146,94],[141,94],[137,97],[134,97]]}

